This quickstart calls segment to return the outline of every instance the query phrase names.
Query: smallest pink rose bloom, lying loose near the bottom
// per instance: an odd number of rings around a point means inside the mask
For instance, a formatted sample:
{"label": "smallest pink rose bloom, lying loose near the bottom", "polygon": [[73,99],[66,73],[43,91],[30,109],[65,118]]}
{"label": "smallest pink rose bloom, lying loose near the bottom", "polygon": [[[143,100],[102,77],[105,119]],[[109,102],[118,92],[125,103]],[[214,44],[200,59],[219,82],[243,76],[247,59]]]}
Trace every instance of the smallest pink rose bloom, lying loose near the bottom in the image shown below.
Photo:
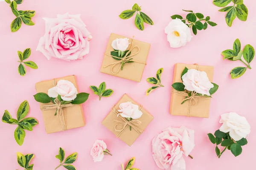
{"label": "smallest pink rose bloom, lying loose near the bottom", "polygon": [[91,156],[93,156],[94,162],[102,161],[104,157],[104,151],[107,149],[107,144],[102,140],[96,140],[91,149]]}

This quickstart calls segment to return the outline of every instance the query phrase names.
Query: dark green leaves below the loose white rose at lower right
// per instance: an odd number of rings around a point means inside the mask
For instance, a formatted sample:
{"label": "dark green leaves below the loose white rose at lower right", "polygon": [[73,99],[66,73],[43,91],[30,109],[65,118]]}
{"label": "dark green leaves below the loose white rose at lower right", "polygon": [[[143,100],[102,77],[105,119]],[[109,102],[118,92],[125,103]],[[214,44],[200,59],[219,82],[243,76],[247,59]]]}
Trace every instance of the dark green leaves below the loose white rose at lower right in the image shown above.
{"label": "dark green leaves below the loose white rose at lower right", "polygon": [[[244,146],[248,143],[247,139],[245,138],[242,138],[239,141],[235,141],[230,137],[229,132],[224,133],[224,132],[221,132],[220,130],[216,130],[214,135],[212,133],[208,133],[207,135],[209,137],[209,140],[213,144],[216,144],[215,152],[218,158],[220,158],[222,153],[224,153],[224,151],[227,149],[230,150],[234,156],[239,156],[242,153],[241,146]],[[221,144],[222,147],[225,147],[222,152],[218,148],[219,144]]]}

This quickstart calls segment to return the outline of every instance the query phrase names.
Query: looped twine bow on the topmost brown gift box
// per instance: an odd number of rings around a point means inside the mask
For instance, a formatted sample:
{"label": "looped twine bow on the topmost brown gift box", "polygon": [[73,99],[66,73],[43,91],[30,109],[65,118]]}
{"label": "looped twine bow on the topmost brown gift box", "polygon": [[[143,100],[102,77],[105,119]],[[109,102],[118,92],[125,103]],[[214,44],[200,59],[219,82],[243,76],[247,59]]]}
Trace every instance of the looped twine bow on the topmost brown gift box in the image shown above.
{"label": "looped twine bow on the topmost brown gift box", "polygon": [[[127,62],[127,61],[138,62],[138,63],[142,63],[142,64],[145,64],[145,65],[146,65],[145,62],[140,62],[140,61],[136,61],[136,60],[134,60],[134,59],[131,59],[132,56],[135,56],[135,55],[139,54],[139,52],[140,52],[140,47],[139,47],[138,45],[133,46],[133,41],[134,41],[134,36],[133,36],[132,39],[131,39],[131,47],[130,47],[129,51],[125,54],[125,56],[124,56],[122,59],[119,58],[119,57],[116,57],[116,56],[112,56],[111,54],[105,54],[105,55],[107,55],[107,56],[114,57],[114,58],[120,59],[120,60],[117,61],[117,62],[113,62],[113,63],[111,63],[111,64],[109,64],[109,65],[106,65],[106,66],[104,66],[104,68],[107,68],[108,66],[112,65],[112,67],[111,67],[111,73],[112,73],[112,74],[117,74],[117,73],[119,73],[119,71],[121,70],[122,64],[125,63],[125,62]],[[128,56],[128,54],[129,54],[134,48],[137,48],[138,51],[137,51],[136,53],[131,54],[131,55]],[[119,63],[120,63],[119,69],[118,69],[116,72],[114,72],[114,71],[113,71],[113,68],[114,68],[116,65],[118,65]]]}

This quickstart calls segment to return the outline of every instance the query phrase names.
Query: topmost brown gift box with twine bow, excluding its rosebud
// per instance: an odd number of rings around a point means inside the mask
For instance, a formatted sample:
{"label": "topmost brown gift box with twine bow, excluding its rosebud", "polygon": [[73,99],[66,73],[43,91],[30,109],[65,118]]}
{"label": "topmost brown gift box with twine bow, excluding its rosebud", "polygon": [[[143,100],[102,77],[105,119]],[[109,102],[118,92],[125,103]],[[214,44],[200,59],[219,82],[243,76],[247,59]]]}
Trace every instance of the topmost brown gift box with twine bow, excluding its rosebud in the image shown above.
{"label": "topmost brown gift box with twine bow, excluding its rosebud", "polygon": [[[130,79],[136,82],[140,82],[145,65],[146,65],[146,61],[148,58],[150,44],[146,42],[138,41],[138,40],[133,40],[133,43],[130,43],[127,48],[127,50],[130,50],[131,48],[134,47],[131,50],[131,56],[130,57],[128,56],[127,60],[132,58],[131,61],[134,61],[134,62],[126,63],[123,67],[123,70],[121,70],[122,60],[116,60],[110,56],[111,51],[114,51],[111,44],[113,40],[116,40],[116,38],[126,38],[126,37],[111,33],[108,40],[107,49],[102,61],[100,72],[110,74],[116,77],[122,77],[124,79]],[[129,42],[132,42],[131,38],[129,38]],[[136,54],[137,52],[138,54]]]}

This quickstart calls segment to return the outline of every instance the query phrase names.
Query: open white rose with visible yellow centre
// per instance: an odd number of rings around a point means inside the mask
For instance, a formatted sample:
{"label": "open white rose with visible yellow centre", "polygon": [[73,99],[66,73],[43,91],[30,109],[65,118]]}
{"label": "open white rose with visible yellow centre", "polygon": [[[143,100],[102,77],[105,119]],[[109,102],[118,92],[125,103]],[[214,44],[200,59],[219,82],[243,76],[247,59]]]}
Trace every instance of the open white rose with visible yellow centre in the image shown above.
{"label": "open white rose with visible yellow centre", "polygon": [[191,40],[190,28],[180,19],[170,21],[164,32],[172,48],[179,48]]}

